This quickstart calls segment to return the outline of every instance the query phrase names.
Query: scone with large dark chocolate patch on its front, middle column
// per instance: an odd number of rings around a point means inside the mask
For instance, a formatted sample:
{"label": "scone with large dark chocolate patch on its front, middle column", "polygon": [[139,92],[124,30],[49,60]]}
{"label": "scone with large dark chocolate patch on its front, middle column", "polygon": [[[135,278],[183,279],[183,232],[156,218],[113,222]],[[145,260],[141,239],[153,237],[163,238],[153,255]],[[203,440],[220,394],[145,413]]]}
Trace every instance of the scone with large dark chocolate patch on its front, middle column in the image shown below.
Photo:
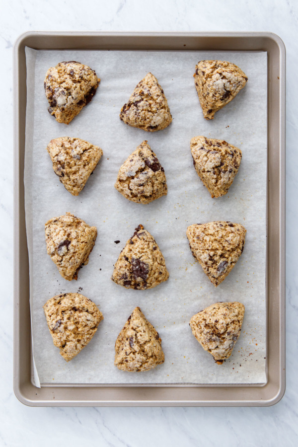
{"label": "scone with large dark chocolate patch on its front, middle column", "polygon": [[151,289],[166,281],[169,273],[154,237],[139,225],[115,264],[112,280],[127,289]]}

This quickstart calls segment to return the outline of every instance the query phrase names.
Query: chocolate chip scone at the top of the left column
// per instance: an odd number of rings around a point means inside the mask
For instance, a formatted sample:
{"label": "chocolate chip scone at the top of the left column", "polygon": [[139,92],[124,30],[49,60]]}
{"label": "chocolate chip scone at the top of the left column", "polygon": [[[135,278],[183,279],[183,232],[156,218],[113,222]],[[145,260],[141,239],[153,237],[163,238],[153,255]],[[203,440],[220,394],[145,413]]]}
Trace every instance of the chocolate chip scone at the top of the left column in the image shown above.
{"label": "chocolate chip scone at the top of the left column", "polygon": [[96,92],[100,79],[94,70],[79,62],[60,62],[47,71],[44,87],[58,123],[69,124]]}

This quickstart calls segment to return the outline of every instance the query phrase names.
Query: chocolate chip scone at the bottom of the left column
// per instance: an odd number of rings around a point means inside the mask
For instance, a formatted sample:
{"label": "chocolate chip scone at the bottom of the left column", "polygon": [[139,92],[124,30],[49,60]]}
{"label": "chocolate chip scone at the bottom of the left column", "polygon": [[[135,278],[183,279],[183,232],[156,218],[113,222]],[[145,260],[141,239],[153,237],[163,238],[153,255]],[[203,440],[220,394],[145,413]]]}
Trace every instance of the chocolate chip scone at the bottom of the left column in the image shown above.
{"label": "chocolate chip scone at the bottom of the left column", "polygon": [[43,308],[54,345],[67,362],[89,343],[103,319],[94,302],[80,294],[57,295]]}

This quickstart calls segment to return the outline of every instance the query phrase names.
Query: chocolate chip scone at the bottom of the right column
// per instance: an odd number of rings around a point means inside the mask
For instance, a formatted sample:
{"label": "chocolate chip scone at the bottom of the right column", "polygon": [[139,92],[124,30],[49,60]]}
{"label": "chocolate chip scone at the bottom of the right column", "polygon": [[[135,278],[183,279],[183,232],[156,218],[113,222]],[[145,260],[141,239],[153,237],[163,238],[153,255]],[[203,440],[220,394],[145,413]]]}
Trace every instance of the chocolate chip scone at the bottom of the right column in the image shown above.
{"label": "chocolate chip scone at the bottom of the right column", "polygon": [[190,320],[192,333],[218,365],[232,353],[240,335],[244,310],[240,302],[217,302]]}

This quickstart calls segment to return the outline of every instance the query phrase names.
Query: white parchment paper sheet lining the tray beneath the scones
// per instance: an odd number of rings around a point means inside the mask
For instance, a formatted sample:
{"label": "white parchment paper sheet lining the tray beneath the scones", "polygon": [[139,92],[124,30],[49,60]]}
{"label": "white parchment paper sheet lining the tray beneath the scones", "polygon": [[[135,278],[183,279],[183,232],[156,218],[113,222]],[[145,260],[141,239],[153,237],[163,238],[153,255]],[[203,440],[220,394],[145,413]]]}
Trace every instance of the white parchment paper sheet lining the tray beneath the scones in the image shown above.
{"label": "white parchment paper sheet lining the tray beneath the scones", "polygon": [[[36,383],[264,383],[267,54],[27,49],[26,58],[25,203]],[[203,118],[192,77],[201,59],[234,62],[249,78],[212,121]],[[43,89],[47,69],[62,60],[83,62],[101,78],[91,103],[69,126],[48,114]],[[149,71],[164,89],[173,116],[173,123],[156,133],[119,120],[121,106]],[[238,174],[223,198],[211,199],[193,168],[189,142],[196,135],[224,139],[242,150]],[[104,152],[78,197],[59,182],[45,150],[61,136],[85,139]],[[168,184],[168,195],[147,206],[127,201],[113,187],[120,165],[144,139],[164,167]],[[98,229],[89,264],[76,282],[60,276],[44,239],[45,222],[66,211]],[[238,222],[247,229],[244,252],[217,289],[194,261],[185,235],[189,224],[213,220]],[[148,291],[126,290],[110,280],[121,248],[140,223],[155,237],[170,273],[166,283]],[[42,309],[48,298],[62,292],[82,293],[104,315],[92,341],[68,364],[52,343]],[[231,300],[241,301],[246,312],[232,356],[218,366],[188,322],[207,305]],[[114,344],[137,305],[162,338],[165,363],[146,373],[124,373],[113,365]]]}

